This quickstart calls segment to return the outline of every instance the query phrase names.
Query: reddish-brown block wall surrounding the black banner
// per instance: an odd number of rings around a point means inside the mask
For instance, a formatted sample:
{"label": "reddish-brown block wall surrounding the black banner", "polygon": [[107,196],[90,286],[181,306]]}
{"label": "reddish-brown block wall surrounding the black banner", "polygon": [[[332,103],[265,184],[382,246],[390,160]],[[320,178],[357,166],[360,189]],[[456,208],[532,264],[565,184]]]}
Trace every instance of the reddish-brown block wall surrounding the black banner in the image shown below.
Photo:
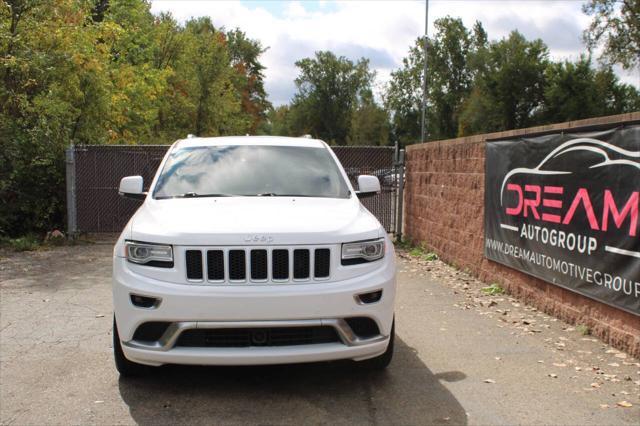
{"label": "reddish-brown block wall surrounding the black banner", "polygon": [[640,317],[487,260],[484,167],[488,139],[583,131],[640,121],[640,112],[410,145],[406,153],[404,233],[442,260],[640,357]]}

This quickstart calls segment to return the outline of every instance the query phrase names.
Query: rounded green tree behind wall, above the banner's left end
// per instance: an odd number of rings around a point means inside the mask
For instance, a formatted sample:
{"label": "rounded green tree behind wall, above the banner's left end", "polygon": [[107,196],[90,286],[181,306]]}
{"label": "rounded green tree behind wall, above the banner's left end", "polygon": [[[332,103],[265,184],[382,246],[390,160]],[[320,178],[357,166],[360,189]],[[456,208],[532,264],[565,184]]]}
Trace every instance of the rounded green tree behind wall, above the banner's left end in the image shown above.
{"label": "rounded green tree behind wall, above the banner's left end", "polygon": [[518,129],[536,124],[544,99],[548,49],[513,31],[478,55],[473,90],[460,118],[461,135]]}

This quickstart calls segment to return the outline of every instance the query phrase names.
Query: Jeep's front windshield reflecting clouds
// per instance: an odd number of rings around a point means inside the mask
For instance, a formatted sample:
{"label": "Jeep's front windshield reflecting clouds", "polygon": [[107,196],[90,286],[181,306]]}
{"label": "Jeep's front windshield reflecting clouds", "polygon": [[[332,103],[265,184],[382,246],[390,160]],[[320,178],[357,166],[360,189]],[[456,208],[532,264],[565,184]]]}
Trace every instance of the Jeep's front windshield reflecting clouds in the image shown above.
{"label": "Jeep's front windshield reflecting clouds", "polygon": [[348,198],[349,189],[326,148],[232,145],[172,152],[153,196]]}

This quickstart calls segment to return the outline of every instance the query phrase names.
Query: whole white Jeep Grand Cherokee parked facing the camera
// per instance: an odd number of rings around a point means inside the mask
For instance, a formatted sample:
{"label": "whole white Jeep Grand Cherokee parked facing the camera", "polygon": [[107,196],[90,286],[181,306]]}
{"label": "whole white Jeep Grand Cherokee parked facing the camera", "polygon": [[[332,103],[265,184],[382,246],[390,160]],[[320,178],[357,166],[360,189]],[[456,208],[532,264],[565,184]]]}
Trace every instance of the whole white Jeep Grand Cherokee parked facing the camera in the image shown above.
{"label": "whole white Jeep Grand Cherokee parked facing the camera", "polygon": [[162,364],[391,361],[393,244],[320,140],[175,142],[113,257],[120,374]]}

